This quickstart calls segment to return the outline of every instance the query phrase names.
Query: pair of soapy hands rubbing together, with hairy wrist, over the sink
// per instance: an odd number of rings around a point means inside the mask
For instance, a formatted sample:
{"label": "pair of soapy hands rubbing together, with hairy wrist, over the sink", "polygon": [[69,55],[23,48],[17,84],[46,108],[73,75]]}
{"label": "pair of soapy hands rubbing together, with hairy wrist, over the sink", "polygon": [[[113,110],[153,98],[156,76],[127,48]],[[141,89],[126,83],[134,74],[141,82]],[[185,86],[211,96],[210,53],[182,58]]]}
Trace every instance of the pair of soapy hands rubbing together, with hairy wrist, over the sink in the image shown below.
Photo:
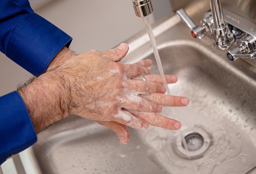
{"label": "pair of soapy hands rubbing together, with hairy wrist, over the sink", "polygon": [[[188,99],[163,94],[166,89],[161,78],[149,75],[146,69],[152,65],[151,60],[134,65],[116,63],[127,51],[127,44],[108,51],[88,51],[66,60],[19,91],[35,130],[69,114],[97,120],[115,131],[123,144],[129,136],[125,125],[140,130],[147,129],[148,124],[179,129],[180,122],[159,114],[161,106],[185,106]],[[166,78],[168,83],[177,80],[175,76]]]}

